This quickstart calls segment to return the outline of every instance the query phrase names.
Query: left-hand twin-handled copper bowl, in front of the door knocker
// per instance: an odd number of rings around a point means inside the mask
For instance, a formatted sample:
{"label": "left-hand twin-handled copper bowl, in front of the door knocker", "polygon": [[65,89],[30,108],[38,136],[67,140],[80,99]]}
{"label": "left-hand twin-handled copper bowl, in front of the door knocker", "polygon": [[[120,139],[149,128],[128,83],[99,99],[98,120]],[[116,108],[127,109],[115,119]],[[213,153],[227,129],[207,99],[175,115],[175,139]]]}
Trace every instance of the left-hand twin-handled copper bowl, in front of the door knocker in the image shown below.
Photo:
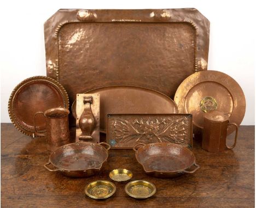
{"label": "left-hand twin-handled copper bowl, in front of the door knocker", "polygon": [[[110,145],[104,142],[67,144],[52,152],[44,167],[50,172],[61,172],[70,177],[88,177],[100,172],[102,164],[107,161],[109,149]],[[55,169],[47,167],[50,163]]]}

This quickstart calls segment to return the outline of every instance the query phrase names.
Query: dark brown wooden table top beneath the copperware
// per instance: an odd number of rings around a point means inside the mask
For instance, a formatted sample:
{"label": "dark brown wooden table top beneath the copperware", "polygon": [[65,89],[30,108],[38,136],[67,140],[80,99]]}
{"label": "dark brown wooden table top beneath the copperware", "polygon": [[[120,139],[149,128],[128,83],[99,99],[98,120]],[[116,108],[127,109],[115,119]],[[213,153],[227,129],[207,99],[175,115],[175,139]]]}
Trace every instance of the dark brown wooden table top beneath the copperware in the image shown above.
{"label": "dark brown wooden table top beneath the copperware", "polygon": [[[229,140],[231,140],[229,136]],[[201,166],[194,174],[175,179],[152,178],[143,172],[133,150],[110,150],[98,175],[73,179],[51,173],[45,139],[20,133],[12,124],[1,124],[2,207],[254,207],[254,126],[241,126],[237,146],[220,154],[201,149],[194,139],[193,152]],[[117,191],[106,200],[84,195],[91,181],[110,180],[110,170],[126,168],[132,180],[153,182],[156,193],[148,199],[126,195],[126,182],[115,182]]]}

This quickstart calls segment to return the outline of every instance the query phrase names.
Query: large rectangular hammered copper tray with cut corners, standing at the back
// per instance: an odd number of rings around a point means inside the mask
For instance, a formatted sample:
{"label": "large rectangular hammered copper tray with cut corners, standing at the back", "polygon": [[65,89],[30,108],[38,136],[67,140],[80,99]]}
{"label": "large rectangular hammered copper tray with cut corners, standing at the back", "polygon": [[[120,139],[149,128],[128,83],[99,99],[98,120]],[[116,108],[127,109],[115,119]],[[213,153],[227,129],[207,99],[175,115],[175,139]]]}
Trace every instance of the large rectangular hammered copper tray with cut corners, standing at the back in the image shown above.
{"label": "large rectangular hammered copper tray with cut corners, standing at the back", "polygon": [[134,85],[173,97],[207,70],[210,22],[196,9],[60,9],[44,24],[47,76],[77,93]]}

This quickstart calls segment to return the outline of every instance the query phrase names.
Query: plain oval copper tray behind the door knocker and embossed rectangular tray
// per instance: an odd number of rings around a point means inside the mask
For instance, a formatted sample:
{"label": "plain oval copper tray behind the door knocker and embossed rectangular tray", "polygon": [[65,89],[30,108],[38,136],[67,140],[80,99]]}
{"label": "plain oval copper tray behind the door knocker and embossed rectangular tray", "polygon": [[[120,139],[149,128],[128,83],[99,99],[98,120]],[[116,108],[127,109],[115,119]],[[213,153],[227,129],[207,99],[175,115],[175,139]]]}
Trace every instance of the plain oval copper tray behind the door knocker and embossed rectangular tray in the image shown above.
{"label": "plain oval copper tray behind the door knocker and embossed rectangular tray", "polygon": [[[176,103],[170,97],[147,88],[128,85],[97,88],[86,93],[100,94],[100,129],[106,132],[107,114],[177,113]],[[76,118],[76,101],[72,113]]]}

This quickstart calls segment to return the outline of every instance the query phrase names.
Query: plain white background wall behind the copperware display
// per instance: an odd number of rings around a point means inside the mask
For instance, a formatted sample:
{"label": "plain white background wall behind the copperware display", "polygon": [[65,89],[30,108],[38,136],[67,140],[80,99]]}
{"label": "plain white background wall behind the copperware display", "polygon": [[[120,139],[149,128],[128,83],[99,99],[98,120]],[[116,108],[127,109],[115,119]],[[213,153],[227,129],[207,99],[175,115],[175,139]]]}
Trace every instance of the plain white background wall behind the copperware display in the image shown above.
{"label": "plain white background wall behind the copperware display", "polygon": [[243,125],[254,125],[254,1],[1,1],[1,122],[8,99],[23,79],[46,75],[43,24],[58,9],[196,8],[211,22],[208,70],[233,77],[246,96]]}

